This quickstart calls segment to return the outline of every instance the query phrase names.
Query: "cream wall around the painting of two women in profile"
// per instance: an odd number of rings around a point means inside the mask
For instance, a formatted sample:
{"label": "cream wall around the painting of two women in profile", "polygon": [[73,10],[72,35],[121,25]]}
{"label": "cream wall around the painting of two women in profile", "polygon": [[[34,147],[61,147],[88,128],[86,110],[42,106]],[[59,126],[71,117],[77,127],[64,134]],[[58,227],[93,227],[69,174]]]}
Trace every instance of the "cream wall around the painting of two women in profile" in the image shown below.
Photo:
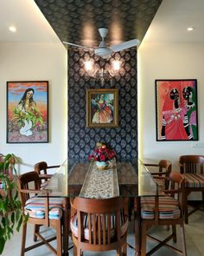
{"label": "cream wall around the painting of two women in profile", "polygon": [[139,157],[168,159],[179,170],[182,154],[204,154],[191,141],[156,141],[156,79],[197,79],[199,141],[204,141],[204,43],[142,43],[138,49]]}

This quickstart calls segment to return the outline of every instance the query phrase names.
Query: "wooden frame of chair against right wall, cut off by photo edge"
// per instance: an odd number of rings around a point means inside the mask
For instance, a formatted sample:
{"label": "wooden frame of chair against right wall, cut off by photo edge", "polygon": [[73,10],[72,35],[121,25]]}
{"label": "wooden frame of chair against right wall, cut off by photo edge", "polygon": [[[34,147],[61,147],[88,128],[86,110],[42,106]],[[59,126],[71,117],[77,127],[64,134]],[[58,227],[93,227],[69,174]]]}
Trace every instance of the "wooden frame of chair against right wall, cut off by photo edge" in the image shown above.
{"label": "wooden frame of chair against right wall, cut off by photo edge", "polygon": [[[203,174],[204,155],[181,155],[179,158],[181,174]],[[202,201],[198,207],[188,211],[188,195],[192,192],[201,192]],[[186,187],[183,188],[183,211],[184,220],[188,224],[188,216],[201,209],[204,204],[204,187]]]}

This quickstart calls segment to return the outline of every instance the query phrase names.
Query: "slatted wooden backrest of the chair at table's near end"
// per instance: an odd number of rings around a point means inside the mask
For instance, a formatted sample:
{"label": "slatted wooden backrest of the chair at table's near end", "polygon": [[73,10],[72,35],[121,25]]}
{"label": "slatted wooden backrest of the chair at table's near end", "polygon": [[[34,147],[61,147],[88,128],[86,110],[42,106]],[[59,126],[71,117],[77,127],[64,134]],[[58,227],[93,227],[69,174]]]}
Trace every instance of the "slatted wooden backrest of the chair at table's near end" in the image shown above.
{"label": "slatted wooden backrest of the chair at table's near end", "polygon": [[[78,241],[85,241],[85,229],[88,228],[89,244],[105,246],[121,240],[122,216],[124,222],[124,199],[121,197],[96,200],[77,197],[73,200],[77,210]],[[86,221],[86,225],[84,225]],[[113,230],[114,229],[114,230]]]}

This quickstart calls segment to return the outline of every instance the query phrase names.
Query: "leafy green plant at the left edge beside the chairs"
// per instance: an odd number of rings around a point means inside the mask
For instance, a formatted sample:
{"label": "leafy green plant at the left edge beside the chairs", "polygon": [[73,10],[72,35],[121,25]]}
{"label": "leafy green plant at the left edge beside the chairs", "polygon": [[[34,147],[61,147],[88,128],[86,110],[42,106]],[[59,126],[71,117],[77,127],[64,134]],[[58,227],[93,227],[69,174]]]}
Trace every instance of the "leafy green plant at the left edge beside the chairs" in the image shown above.
{"label": "leafy green plant at the left edge beside the chairs", "polygon": [[0,254],[15,227],[19,231],[22,221],[26,220],[15,182],[18,162],[19,158],[14,154],[0,154]]}

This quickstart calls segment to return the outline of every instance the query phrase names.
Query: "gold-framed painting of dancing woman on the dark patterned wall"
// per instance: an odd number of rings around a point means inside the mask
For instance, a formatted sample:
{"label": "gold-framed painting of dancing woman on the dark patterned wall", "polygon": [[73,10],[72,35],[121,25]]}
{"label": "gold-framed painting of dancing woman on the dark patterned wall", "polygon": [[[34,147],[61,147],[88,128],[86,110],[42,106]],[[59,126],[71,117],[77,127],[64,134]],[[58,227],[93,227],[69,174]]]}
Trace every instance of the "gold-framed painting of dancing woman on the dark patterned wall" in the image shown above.
{"label": "gold-framed painting of dancing woman on the dark patterned wall", "polygon": [[86,90],[86,126],[118,127],[118,89]]}

